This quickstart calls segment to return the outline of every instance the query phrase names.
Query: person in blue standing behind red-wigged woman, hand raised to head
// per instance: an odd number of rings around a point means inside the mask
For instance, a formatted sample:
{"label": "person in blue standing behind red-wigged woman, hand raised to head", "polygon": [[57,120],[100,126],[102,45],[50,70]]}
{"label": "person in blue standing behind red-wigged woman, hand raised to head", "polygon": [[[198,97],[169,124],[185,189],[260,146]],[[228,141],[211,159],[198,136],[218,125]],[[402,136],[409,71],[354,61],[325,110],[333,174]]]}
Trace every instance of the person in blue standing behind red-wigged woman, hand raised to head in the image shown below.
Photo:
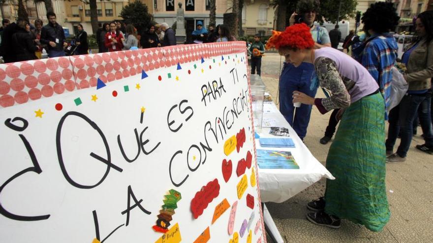
{"label": "person in blue standing behind red-wigged woman, hand raised to head", "polygon": [[[318,0],[300,0],[297,4],[297,11],[291,15],[289,20],[291,26],[295,23],[304,23],[310,28],[315,49],[331,46],[331,40],[326,28],[314,26],[318,11]],[[304,139],[307,135],[311,106],[302,104],[301,107],[296,108],[295,114],[292,94],[293,91],[300,91],[314,97],[317,87],[311,85],[311,79],[315,79],[313,74],[314,66],[311,63],[304,62],[295,67],[289,62],[284,62],[279,80],[279,110],[301,139]]]}

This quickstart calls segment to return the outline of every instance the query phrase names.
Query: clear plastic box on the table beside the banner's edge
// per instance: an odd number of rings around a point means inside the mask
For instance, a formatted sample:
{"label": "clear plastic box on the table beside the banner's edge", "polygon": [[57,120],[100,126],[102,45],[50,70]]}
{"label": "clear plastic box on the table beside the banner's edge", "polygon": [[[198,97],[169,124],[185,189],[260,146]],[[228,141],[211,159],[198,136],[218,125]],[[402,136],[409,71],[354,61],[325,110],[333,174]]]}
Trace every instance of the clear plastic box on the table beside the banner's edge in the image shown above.
{"label": "clear plastic box on the table beside the banner's edge", "polygon": [[260,133],[262,130],[263,98],[266,86],[263,83],[262,78],[256,74],[251,74],[250,86],[254,130],[257,133]]}

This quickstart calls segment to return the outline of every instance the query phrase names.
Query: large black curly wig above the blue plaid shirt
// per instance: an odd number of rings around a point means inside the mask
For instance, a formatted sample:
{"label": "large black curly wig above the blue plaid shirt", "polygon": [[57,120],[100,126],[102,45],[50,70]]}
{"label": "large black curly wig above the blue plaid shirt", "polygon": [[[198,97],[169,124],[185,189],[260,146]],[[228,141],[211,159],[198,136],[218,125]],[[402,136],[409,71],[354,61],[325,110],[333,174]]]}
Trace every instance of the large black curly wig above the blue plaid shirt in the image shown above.
{"label": "large black curly wig above the blue plaid shirt", "polygon": [[393,31],[399,24],[400,17],[392,2],[376,2],[362,15],[364,30],[376,33]]}

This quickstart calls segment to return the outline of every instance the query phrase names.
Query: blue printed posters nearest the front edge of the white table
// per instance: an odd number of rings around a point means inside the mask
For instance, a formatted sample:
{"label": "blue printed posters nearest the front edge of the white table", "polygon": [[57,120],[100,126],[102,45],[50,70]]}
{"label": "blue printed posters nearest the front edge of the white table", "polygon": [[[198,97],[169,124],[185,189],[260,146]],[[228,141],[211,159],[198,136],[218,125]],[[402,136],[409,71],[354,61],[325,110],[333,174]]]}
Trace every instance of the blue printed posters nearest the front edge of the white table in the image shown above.
{"label": "blue printed posters nearest the front edge of the white table", "polygon": [[287,151],[257,149],[257,165],[261,169],[299,169],[292,153]]}

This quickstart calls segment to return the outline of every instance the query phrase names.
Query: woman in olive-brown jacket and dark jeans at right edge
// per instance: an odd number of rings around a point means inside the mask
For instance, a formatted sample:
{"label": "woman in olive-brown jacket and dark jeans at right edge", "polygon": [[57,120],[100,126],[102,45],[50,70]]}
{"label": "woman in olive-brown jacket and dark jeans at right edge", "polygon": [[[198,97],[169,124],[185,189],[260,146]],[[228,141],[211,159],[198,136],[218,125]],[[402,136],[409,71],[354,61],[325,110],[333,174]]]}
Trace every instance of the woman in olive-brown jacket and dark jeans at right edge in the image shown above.
{"label": "woman in olive-brown jacket and dark jeans at right edge", "polygon": [[[431,116],[431,78],[433,77],[433,11],[420,13],[415,22],[419,40],[408,46],[402,56],[407,72],[403,75],[409,90],[400,104],[389,114],[388,139],[386,140],[387,162],[403,162],[412,141],[412,123],[418,114],[425,143],[416,148],[433,153],[433,128]],[[421,107],[421,108],[420,108]],[[420,109],[418,109],[420,108]],[[418,112],[417,112],[418,111]],[[400,146],[393,154],[393,147],[401,132]]]}

